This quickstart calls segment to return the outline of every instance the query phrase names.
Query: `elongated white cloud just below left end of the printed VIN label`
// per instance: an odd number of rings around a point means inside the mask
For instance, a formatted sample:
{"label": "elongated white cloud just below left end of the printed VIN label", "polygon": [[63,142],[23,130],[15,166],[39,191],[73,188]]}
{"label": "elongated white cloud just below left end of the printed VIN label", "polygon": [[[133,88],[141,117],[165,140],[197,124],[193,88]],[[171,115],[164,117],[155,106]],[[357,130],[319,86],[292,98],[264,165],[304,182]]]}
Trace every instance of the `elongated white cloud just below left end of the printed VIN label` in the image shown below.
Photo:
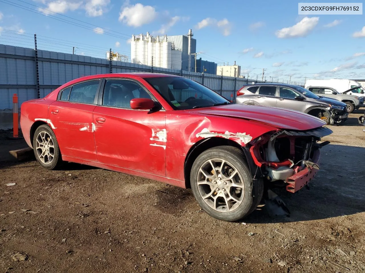
{"label": "elongated white cloud just below left end of the printed VIN label", "polygon": [[318,24],[319,17],[304,17],[292,27],[282,28],[275,32],[278,38],[304,37],[307,36]]}

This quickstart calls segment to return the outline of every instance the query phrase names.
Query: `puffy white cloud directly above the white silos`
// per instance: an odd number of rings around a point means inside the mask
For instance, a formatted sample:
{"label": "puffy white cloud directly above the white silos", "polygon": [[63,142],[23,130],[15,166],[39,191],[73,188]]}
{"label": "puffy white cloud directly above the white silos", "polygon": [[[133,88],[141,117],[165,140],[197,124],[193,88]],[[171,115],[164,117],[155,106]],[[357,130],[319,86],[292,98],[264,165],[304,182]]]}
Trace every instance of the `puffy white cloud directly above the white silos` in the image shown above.
{"label": "puffy white cloud directly above the white silos", "polygon": [[151,23],[156,17],[157,12],[154,7],[144,6],[141,3],[127,5],[119,13],[119,21],[132,27]]}

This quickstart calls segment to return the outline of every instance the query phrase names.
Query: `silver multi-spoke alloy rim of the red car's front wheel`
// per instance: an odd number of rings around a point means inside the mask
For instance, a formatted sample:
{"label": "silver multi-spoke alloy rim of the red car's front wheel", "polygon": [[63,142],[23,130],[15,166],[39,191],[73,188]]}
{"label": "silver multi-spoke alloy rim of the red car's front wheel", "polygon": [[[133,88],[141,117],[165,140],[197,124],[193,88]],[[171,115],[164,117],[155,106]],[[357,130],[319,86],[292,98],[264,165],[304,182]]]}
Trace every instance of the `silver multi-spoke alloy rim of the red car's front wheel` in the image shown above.
{"label": "silver multi-spoke alloy rim of the red car's front wheel", "polygon": [[237,209],[245,195],[241,174],[233,164],[220,158],[209,159],[201,165],[197,186],[204,202],[219,212]]}

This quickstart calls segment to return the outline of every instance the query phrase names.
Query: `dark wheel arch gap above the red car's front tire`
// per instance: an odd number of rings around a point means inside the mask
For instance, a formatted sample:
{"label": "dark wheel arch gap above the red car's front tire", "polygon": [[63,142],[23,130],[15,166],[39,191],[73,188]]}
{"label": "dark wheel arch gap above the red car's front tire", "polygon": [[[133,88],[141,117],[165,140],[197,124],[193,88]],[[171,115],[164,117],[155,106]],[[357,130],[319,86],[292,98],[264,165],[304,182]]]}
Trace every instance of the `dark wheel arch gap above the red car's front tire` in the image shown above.
{"label": "dark wheel arch gap above the red car's front tire", "polygon": [[232,146],[232,147],[236,147],[236,148],[242,150],[243,155],[244,155],[243,159],[246,161],[247,165],[249,166],[251,174],[253,173],[253,171],[255,169],[254,166],[256,166],[256,165],[254,165],[250,152],[246,147],[242,147],[237,142],[235,142],[231,139],[220,138],[220,137],[205,138],[205,139],[202,139],[202,140],[196,142],[189,149],[187,156],[185,157],[184,177],[185,177],[185,187],[187,189],[191,188],[190,171],[191,171],[191,168],[193,166],[195,159],[204,151],[214,148],[214,147],[218,147],[218,146]]}

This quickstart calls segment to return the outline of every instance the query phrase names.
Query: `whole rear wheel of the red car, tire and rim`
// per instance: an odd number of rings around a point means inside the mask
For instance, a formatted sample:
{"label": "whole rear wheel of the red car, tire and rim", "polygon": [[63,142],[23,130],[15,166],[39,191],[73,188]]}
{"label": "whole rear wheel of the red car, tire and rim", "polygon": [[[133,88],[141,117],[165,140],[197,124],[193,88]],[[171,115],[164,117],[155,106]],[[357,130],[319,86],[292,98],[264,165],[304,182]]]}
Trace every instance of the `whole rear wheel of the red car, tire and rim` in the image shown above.
{"label": "whole rear wheel of the red car, tire and rim", "polygon": [[46,124],[35,130],[33,150],[38,163],[45,169],[54,170],[62,163],[56,136]]}

